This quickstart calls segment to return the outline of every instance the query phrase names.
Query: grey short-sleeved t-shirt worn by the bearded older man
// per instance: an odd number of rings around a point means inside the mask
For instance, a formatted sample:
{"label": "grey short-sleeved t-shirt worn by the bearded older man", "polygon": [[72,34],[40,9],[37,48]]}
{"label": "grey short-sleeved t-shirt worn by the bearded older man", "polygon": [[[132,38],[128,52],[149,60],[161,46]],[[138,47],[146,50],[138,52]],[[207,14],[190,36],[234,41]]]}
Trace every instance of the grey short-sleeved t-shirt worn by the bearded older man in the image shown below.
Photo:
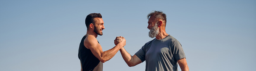
{"label": "grey short-sleeved t-shirt worn by the bearded older man", "polygon": [[145,71],[178,71],[177,60],[186,58],[180,42],[171,35],[145,43],[135,55],[146,60]]}

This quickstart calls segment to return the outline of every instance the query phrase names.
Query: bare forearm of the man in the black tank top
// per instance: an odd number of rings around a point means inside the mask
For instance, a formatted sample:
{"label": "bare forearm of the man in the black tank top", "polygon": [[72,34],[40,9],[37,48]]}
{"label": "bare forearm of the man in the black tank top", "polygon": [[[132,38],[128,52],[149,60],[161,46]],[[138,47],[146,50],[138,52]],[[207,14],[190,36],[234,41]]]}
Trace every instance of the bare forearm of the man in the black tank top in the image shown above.
{"label": "bare forearm of the man in the black tank top", "polygon": [[114,57],[116,55],[118,50],[121,48],[122,48],[122,46],[118,44],[118,45],[114,46],[112,49],[104,51],[103,54],[101,55],[102,62],[104,63],[104,62],[110,60],[112,57]]}

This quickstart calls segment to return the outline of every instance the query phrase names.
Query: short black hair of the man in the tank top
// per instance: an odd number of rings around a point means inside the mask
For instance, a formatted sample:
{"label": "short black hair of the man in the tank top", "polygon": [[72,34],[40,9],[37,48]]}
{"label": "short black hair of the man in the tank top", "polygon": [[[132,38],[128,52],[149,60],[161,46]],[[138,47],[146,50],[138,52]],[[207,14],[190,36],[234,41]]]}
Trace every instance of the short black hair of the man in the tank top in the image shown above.
{"label": "short black hair of the man in the tank top", "polygon": [[89,29],[89,25],[92,23],[94,24],[94,18],[102,18],[100,13],[92,13],[86,16],[85,18],[85,25],[87,27],[87,30]]}

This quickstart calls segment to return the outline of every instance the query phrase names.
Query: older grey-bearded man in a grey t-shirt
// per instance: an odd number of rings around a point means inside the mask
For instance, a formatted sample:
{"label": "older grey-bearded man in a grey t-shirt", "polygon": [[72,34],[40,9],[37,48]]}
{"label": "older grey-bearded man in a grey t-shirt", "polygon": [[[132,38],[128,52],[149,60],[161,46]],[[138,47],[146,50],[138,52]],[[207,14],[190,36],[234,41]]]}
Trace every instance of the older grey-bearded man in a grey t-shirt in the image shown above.
{"label": "older grey-bearded man in a grey t-shirt", "polygon": [[[177,64],[182,71],[189,71],[185,53],[178,40],[165,32],[166,14],[154,11],[148,14],[148,35],[152,41],[145,43],[142,48],[131,56],[124,48],[119,51],[129,67],[146,61],[145,71],[177,71]],[[118,38],[118,39],[117,39]],[[117,37],[115,43],[120,43]]]}

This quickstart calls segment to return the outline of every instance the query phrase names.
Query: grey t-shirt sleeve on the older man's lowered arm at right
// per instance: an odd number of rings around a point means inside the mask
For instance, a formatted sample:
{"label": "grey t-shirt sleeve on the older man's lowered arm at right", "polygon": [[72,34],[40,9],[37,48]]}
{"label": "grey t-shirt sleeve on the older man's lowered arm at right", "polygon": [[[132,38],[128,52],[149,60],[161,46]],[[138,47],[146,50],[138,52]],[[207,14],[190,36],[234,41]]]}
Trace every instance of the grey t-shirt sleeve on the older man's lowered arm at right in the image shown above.
{"label": "grey t-shirt sleeve on the older man's lowered arm at right", "polygon": [[183,48],[179,41],[177,40],[174,41],[173,48],[174,48],[174,52],[173,52],[174,59],[180,60],[180,59],[186,58]]}

